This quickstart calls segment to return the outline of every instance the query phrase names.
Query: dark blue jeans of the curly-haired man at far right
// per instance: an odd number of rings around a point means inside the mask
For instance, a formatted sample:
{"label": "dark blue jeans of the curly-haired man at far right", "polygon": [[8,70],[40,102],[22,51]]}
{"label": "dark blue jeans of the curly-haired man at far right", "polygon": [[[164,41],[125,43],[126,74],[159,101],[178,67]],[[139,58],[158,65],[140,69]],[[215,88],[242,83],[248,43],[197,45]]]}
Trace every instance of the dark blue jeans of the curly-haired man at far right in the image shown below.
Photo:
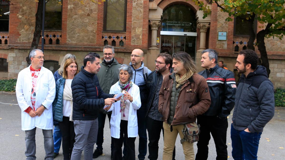
{"label": "dark blue jeans of the curly-haired man at far right", "polygon": [[233,159],[257,159],[259,139],[262,132],[238,131],[231,125],[232,156]]}

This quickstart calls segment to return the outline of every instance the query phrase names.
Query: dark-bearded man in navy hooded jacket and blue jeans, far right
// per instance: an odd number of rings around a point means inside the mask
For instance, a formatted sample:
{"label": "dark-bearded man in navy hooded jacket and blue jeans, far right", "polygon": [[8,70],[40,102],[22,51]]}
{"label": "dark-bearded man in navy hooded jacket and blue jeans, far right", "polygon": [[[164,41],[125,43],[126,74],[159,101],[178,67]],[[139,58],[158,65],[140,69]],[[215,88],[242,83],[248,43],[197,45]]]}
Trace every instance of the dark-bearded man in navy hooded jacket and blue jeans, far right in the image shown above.
{"label": "dark-bearded man in navy hooded jacket and blue jeans, far right", "polygon": [[253,50],[242,50],[237,56],[235,66],[243,74],[237,86],[231,125],[234,159],[257,159],[263,128],[274,116],[274,87],[266,68],[257,63]]}

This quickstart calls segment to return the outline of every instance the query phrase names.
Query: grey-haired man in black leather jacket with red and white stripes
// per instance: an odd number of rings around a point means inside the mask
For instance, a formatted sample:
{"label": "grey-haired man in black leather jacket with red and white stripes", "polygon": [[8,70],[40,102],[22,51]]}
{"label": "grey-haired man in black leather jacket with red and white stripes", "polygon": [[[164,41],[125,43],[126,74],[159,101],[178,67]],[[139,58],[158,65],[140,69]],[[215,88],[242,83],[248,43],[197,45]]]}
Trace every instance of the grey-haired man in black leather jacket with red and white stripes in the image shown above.
{"label": "grey-haired man in black leather jacket with red and white stripes", "polygon": [[202,51],[201,67],[204,71],[198,74],[205,77],[208,83],[211,96],[209,110],[197,116],[197,123],[200,124],[200,137],[197,143],[198,151],[196,160],[208,158],[208,144],[213,136],[216,146],[216,159],[227,159],[227,116],[235,105],[236,84],[232,71],[223,69],[217,65],[218,55],[213,49]]}

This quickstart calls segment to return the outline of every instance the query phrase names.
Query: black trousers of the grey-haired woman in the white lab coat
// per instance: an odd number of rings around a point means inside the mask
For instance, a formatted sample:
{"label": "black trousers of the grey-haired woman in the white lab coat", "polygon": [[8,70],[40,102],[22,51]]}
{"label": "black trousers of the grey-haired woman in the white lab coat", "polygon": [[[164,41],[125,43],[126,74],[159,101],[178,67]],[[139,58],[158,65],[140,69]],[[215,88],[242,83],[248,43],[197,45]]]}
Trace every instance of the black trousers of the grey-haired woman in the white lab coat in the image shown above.
{"label": "black trousers of the grey-haired woman in the white lab coat", "polygon": [[[125,137],[124,137],[125,135]],[[136,153],[135,153],[135,137],[128,138],[128,121],[121,120],[120,123],[120,138],[113,138],[114,148],[113,148],[113,158],[114,160],[122,160],[122,147],[123,141],[126,141],[126,145],[124,148],[127,149],[127,155],[125,159],[127,160],[135,160]]]}

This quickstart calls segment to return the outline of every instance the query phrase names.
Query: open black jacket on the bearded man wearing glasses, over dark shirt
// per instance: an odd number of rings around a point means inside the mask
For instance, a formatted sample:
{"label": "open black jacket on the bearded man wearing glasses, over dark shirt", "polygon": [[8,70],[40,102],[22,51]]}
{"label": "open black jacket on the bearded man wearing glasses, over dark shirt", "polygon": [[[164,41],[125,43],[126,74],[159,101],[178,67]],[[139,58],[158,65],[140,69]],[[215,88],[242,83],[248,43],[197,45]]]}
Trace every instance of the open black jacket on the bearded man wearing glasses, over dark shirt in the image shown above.
{"label": "open black jacket on the bearded man wearing glasses, over dark shirt", "polygon": [[[173,69],[170,68],[170,73],[173,72]],[[156,72],[156,70],[152,71],[149,75],[148,75],[148,79],[147,79],[147,83],[146,83],[146,87],[147,87],[147,90],[148,90],[148,100],[147,100],[147,103],[146,103],[146,115],[148,114],[148,111],[149,111],[149,108],[151,106],[151,103],[152,103],[152,100],[154,98],[154,93],[155,91],[159,92],[160,88],[157,89],[157,84],[158,84],[158,81],[159,81],[159,78],[160,78],[160,75],[161,73],[159,72]],[[158,99],[158,97],[155,97]]]}

